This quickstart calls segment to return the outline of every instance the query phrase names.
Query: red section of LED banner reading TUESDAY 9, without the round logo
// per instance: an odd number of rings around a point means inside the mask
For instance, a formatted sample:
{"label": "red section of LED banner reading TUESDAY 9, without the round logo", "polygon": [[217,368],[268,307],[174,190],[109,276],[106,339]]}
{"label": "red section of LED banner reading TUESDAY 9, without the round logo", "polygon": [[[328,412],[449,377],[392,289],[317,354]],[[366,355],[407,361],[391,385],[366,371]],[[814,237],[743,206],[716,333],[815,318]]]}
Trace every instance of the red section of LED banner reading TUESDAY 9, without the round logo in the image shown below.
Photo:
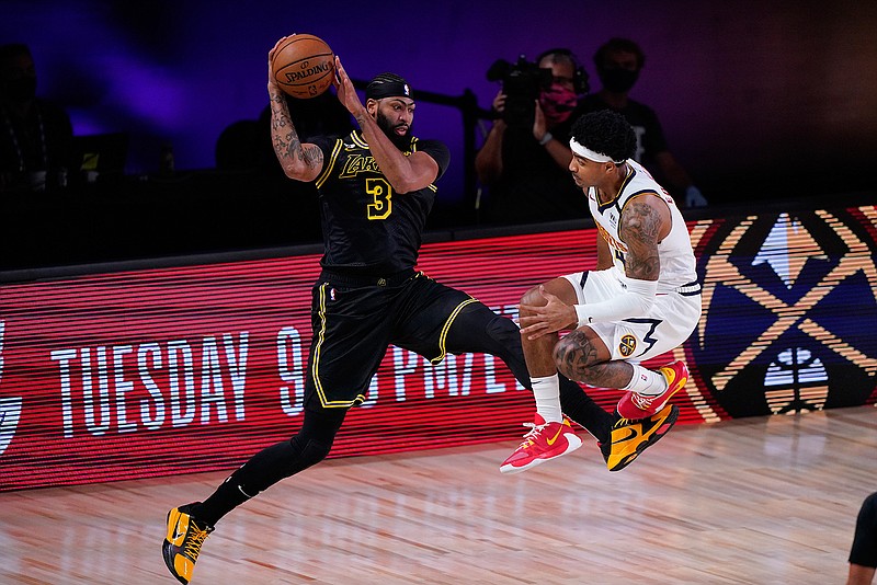
{"label": "red section of LED banner reading TUESDAY 9, without the round logo", "polygon": [[[420,268],[514,317],[528,285],[589,267],[568,251],[593,238],[428,245]],[[230,468],[292,436],[318,260],[2,287],[0,489]],[[532,410],[492,356],[433,367],[391,347],[332,456],[513,438]]]}

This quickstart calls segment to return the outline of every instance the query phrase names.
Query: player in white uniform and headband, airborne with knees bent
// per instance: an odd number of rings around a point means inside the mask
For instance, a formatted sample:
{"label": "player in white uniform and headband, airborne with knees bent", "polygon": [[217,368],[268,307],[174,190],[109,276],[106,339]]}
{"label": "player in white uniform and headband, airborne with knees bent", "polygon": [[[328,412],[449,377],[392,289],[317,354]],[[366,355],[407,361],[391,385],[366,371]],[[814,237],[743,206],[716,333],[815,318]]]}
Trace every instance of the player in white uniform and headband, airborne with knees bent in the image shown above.
{"label": "player in white uniform and headband, airborne with knees bent", "polygon": [[[634,129],[620,114],[604,110],[579,118],[571,136],[569,169],[600,232],[597,265],[534,287],[521,299],[537,424],[503,463],[513,471],[569,452],[558,452],[554,433],[539,431],[563,422],[558,371],[624,392],[610,444],[601,450],[611,471],[626,467],[675,422],[679,411],[668,403],[688,378],[682,362],[658,370],[639,363],[681,345],[701,318],[687,227],[673,198],[630,158]],[[559,337],[565,330],[571,331]]]}

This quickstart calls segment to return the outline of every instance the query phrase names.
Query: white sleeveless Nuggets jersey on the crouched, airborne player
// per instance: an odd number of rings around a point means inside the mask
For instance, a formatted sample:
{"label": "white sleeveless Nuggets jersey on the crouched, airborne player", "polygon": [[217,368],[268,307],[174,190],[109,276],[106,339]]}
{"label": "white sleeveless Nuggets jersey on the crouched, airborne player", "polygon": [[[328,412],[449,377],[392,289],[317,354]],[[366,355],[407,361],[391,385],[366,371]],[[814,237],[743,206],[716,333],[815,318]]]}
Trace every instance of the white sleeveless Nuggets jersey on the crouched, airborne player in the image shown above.
{"label": "white sleeveless Nuggets jersey on the crouched, airborne player", "polygon": [[631,172],[622,185],[618,196],[613,200],[601,204],[596,196],[596,190],[594,187],[588,190],[588,205],[591,208],[591,215],[594,217],[600,234],[610,244],[615,269],[620,271],[623,275],[625,274],[627,244],[622,241],[618,234],[622,209],[635,195],[652,192],[667,202],[672,219],[670,233],[658,244],[658,259],[661,262],[661,269],[658,276],[658,292],[670,292],[677,290],[680,287],[695,284],[697,272],[695,269],[692,240],[676,203],[641,164],[633,159],[627,159],[627,164]]}

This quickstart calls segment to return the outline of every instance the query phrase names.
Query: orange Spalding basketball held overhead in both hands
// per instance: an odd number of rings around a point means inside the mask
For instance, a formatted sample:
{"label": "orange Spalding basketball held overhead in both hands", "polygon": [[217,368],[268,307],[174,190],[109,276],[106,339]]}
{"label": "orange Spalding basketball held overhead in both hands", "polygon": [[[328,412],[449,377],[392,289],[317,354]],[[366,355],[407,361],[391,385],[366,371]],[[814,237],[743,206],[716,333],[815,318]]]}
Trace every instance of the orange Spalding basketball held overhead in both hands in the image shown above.
{"label": "orange Spalding basketball held overhead in both hands", "polygon": [[335,56],[322,38],[297,34],[274,51],[271,70],[277,85],[293,97],[316,97],[332,84]]}

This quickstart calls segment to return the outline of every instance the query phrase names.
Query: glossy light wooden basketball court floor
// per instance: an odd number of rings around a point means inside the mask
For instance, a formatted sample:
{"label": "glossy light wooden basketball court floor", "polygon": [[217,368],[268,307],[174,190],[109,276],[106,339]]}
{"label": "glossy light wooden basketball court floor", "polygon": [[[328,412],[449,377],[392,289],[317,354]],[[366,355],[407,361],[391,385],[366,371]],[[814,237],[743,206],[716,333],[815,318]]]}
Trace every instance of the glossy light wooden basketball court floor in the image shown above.
{"label": "glossy light wooden basketball court floor", "polygon": [[[514,446],[324,461],[223,519],[193,584],[843,583],[877,491],[873,406],[676,426],[616,473],[588,440],[502,475]],[[164,515],[225,477],[0,494],[0,583],[175,583]]]}

